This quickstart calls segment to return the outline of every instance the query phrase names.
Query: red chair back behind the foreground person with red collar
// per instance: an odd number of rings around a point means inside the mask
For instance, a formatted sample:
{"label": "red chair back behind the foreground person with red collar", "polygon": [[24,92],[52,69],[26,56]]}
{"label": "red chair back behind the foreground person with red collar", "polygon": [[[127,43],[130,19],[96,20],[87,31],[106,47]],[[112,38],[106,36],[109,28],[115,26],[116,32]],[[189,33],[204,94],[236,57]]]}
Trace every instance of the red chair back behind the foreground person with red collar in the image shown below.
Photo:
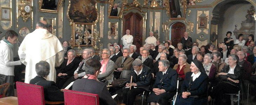
{"label": "red chair back behind the foreground person with red collar", "polygon": [[79,92],[73,90],[63,90],[65,105],[99,105],[99,95]]}

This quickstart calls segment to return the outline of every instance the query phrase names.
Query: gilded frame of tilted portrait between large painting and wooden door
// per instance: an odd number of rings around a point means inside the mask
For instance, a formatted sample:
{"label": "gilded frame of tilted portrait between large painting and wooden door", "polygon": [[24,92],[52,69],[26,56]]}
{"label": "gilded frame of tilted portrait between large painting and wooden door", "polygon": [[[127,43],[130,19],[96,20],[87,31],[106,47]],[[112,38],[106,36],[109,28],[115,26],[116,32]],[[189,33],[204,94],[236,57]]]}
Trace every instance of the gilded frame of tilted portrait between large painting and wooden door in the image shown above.
{"label": "gilded frame of tilted portrait between large painting and wooden door", "polygon": [[[120,3],[120,1],[122,2],[122,3]],[[123,13],[123,8],[124,8],[124,6],[127,4],[127,2],[128,2],[128,0],[109,0],[108,1],[108,5],[109,5],[109,8],[108,8],[108,17],[109,18],[113,18],[113,19],[119,19],[119,18],[121,18],[122,16],[122,13]],[[118,13],[117,13],[117,16],[111,16],[110,14],[111,14],[111,11],[112,11],[112,8],[114,7],[114,5],[115,5],[115,3],[116,4],[118,4],[118,6],[117,6],[117,10],[118,10]],[[120,6],[121,5],[121,6]]]}

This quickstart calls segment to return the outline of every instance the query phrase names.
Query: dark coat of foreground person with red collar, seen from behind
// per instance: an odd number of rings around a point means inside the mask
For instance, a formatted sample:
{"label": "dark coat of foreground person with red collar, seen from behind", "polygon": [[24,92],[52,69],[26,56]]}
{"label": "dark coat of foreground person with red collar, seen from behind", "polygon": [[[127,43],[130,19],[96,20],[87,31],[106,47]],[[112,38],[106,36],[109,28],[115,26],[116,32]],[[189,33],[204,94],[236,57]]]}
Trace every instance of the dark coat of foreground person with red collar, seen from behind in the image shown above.
{"label": "dark coat of foreground person with red collar, seen from behind", "polygon": [[73,83],[72,90],[98,94],[100,105],[116,105],[115,100],[107,90],[106,84],[103,82],[87,78],[77,79]]}

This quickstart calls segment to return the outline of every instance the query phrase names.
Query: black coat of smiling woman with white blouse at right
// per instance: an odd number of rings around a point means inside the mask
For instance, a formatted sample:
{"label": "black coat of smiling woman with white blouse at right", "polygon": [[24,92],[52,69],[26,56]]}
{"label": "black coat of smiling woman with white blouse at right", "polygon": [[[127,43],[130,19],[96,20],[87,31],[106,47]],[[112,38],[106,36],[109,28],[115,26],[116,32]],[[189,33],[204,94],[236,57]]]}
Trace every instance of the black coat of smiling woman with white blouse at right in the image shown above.
{"label": "black coat of smiling woman with white blouse at right", "polygon": [[[224,68],[221,70],[221,72],[224,72],[224,73],[228,73],[229,71],[229,65],[226,65],[224,66]],[[228,75],[219,75],[219,78],[224,81],[224,82],[227,82],[227,83],[230,83],[234,86],[239,86],[239,83],[234,83],[234,82],[231,82],[230,80],[227,80],[227,78],[231,78],[233,80],[241,80],[242,79],[242,74],[243,74],[243,71],[244,71],[244,68],[240,65],[236,65],[236,68],[234,70],[234,74],[230,74],[228,73]]]}

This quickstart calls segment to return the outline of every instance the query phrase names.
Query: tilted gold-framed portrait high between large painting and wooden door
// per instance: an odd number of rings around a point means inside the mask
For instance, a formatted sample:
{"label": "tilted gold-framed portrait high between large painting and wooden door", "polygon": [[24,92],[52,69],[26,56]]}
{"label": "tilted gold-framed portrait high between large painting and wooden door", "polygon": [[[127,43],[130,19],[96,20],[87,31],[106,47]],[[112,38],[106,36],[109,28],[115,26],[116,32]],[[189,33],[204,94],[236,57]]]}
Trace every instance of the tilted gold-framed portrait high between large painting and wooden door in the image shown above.
{"label": "tilted gold-framed portrait high between large painting and wooden door", "polygon": [[110,0],[109,1],[109,18],[119,18],[122,13],[123,6],[127,3],[127,0]]}

